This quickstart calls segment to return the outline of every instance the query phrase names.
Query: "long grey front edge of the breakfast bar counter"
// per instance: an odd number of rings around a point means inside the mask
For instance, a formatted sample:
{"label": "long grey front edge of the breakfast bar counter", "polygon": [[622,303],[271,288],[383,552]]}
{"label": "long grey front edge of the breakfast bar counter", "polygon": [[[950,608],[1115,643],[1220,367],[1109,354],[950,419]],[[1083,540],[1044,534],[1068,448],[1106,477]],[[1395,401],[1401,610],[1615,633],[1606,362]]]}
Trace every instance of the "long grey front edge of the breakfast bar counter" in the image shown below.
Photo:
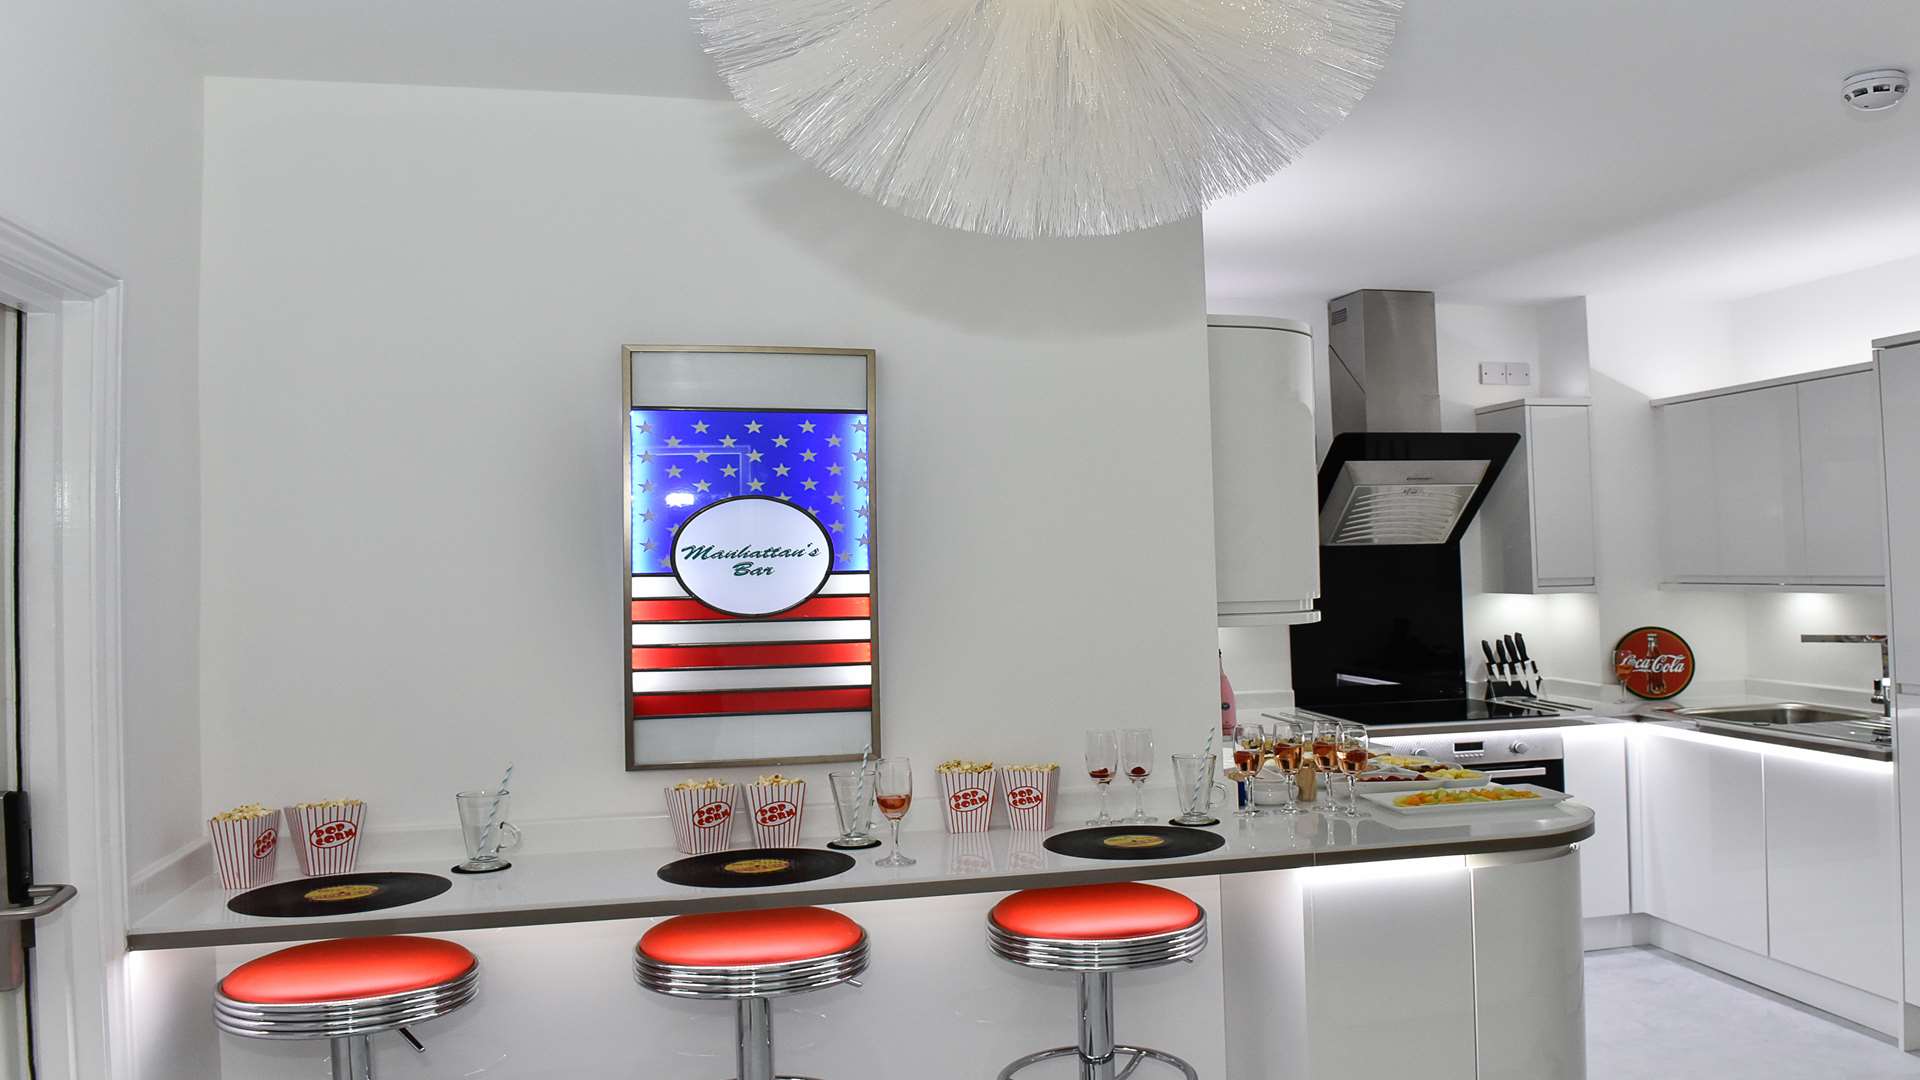
{"label": "long grey front edge of the breakfast bar counter", "polygon": [[[1411,836],[1411,834],[1409,834]],[[977,878],[922,880],[902,884],[833,886],[831,878],[818,886],[780,892],[739,892],[726,896],[689,896],[685,899],[645,899],[582,903],[563,907],[526,907],[505,911],[461,911],[447,915],[407,915],[396,911],[390,919],[353,919],[346,922],[286,920],[284,924],[219,926],[204,930],[150,930],[127,934],[129,949],[205,949],[215,945],[269,945],[280,942],[323,942],[332,938],[374,938],[382,934],[434,934],[451,930],[495,930],[501,926],[557,926],[564,922],[609,922],[616,919],[659,919],[664,915],[695,915],[707,911],[758,911],[768,907],[804,907],[818,903],[860,903],[870,899],[912,899],[924,896],[970,896],[983,892],[1014,892],[1023,888],[1056,888],[1106,882],[1146,882],[1167,878],[1212,878],[1221,874],[1250,874],[1261,871],[1298,871],[1306,867],[1342,867],[1354,863],[1392,863],[1400,859],[1434,859],[1446,855],[1488,855],[1501,851],[1557,851],[1594,836],[1588,819],[1569,828],[1505,836],[1496,840],[1440,840],[1432,844],[1407,842],[1396,847],[1361,847],[1352,851],[1244,855],[1227,859],[1169,859],[1164,863],[1096,863],[1068,871],[1035,871],[1027,874],[991,874]]]}

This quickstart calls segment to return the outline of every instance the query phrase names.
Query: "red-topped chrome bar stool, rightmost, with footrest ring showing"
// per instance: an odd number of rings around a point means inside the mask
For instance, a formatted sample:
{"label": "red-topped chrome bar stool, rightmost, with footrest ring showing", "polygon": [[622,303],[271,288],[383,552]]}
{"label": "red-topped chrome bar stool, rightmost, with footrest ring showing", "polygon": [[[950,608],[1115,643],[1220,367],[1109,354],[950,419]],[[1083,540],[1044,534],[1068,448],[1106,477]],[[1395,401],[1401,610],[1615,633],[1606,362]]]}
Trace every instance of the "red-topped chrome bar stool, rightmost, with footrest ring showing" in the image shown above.
{"label": "red-topped chrome bar stool, rightmost, with footrest ring showing", "polygon": [[[1052,1057],[1079,1057],[1081,1080],[1123,1080],[1140,1061],[1179,1068],[1171,1053],[1114,1042],[1114,972],[1192,961],[1206,949],[1206,911],[1185,896],[1137,882],[1016,892],[987,915],[987,947],[1000,959],[1048,970],[1075,970],[1079,1045],[1029,1053],[1000,1070],[1000,1080]],[[1116,1055],[1131,1053],[1116,1072]]]}

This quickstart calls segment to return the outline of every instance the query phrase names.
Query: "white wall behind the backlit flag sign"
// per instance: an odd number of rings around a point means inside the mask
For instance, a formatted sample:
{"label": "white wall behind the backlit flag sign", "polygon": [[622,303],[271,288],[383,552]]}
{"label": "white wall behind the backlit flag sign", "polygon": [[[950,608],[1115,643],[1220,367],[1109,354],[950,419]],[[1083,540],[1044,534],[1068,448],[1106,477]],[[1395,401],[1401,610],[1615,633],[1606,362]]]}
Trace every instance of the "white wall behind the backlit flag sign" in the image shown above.
{"label": "white wall behind the backlit flag sign", "polygon": [[1213,723],[1198,223],[910,223],[718,102],[213,79],[205,131],[207,807],[445,822],[513,759],[522,819],[659,809],[622,771],[622,342],[879,350],[879,696],[922,782]]}

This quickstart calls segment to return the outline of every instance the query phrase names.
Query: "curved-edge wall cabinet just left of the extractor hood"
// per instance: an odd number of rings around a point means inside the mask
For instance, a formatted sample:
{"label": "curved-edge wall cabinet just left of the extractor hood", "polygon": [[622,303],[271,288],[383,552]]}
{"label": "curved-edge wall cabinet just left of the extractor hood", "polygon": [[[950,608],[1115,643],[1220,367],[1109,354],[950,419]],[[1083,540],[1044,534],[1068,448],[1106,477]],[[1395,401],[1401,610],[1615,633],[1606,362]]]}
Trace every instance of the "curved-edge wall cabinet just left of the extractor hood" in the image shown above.
{"label": "curved-edge wall cabinet just left of the extractor hood", "polygon": [[1219,625],[1315,623],[1313,334],[1292,319],[1210,315],[1208,371]]}

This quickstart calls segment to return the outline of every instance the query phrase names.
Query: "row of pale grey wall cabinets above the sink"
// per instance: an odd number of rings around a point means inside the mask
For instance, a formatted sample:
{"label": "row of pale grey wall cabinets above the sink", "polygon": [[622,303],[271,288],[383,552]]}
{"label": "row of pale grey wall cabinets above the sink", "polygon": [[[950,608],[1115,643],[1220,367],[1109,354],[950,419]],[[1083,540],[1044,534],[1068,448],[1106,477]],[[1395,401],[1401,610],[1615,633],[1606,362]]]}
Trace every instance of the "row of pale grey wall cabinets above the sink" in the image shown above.
{"label": "row of pale grey wall cabinets above the sink", "polygon": [[1665,580],[1885,584],[1870,365],[1653,402]]}

